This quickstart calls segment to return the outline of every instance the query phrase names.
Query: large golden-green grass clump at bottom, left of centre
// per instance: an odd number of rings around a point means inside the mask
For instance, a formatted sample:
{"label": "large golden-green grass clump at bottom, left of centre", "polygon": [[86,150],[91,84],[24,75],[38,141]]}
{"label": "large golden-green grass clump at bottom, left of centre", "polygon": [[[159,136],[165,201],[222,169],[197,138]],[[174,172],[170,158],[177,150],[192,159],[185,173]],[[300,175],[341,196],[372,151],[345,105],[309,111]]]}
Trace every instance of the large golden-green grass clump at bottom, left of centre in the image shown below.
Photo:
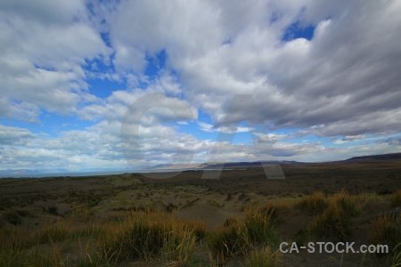
{"label": "large golden-green grass clump at bottom, left of centre", "polygon": [[206,231],[202,223],[180,221],[157,212],[131,212],[117,225],[104,227],[99,253],[109,263],[160,255],[165,261],[184,264],[192,255],[197,235],[205,235]]}

